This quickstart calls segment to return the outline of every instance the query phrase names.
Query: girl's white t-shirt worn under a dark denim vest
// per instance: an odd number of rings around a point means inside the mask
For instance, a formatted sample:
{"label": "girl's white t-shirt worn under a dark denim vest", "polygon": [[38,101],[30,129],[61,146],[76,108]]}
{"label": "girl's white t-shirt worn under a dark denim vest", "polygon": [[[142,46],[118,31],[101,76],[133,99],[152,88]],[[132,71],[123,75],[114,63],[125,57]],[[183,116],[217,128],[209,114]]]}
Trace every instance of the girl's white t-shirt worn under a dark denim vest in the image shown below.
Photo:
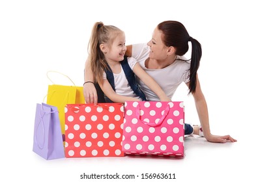
{"label": "girl's white t-shirt worn under a dark denim vest", "polygon": [[[128,57],[128,64],[132,70],[134,70],[134,65],[137,63],[137,60],[135,60],[133,57]],[[120,64],[121,66],[121,64]],[[126,75],[124,73],[124,70],[122,70],[121,66],[121,73],[115,74],[114,79],[115,79],[115,92],[121,96],[127,96],[127,97],[132,97],[132,98],[137,98],[139,97],[134,93],[134,90],[130,87]],[[107,79],[106,72],[103,73],[103,79]]]}

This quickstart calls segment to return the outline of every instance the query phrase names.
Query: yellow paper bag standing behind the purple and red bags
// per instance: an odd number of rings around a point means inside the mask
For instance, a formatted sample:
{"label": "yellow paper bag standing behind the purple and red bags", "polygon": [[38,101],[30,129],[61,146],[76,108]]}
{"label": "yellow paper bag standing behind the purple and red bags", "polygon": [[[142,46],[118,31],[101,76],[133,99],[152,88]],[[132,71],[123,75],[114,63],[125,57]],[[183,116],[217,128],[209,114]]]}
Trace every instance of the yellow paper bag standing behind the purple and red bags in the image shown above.
{"label": "yellow paper bag standing behind the purple and red bags", "polygon": [[[47,77],[51,81],[48,73]],[[68,76],[64,76],[67,77],[73,83],[74,86],[55,85],[55,83],[51,81],[53,85],[48,85],[47,94],[47,104],[53,105],[57,107],[57,109],[59,110],[59,120],[61,122],[61,133],[63,134],[63,136],[65,133],[64,107],[66,106],[66,104],[85,103],[85,98],[83,97],[83,86],[76,86]]]}

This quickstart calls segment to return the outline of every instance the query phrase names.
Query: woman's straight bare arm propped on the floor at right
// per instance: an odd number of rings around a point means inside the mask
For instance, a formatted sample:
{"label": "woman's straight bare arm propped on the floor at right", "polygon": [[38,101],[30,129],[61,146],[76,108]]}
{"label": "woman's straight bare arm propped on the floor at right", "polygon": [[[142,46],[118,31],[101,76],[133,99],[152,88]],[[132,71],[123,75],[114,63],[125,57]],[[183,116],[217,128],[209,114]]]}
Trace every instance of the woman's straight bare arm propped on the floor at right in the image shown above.
{"label": "woman's straight bare arm propped on the floor at right", "polygon": [[[189,84],[190,83],[186,83],[187,86],[189,86]],[[201,90],[198,76],[197,76],[197,86],[195,88],[195,92],[193,93],[193,98],[195,99],[195,107],[197,109],[197,114],[199,116],[199,120],[200,120],[206,140],[208,140],[209,142],[221,142],[221,143],[224,143],[227,140],[230,140],[231,142],[236,142],[236,140],[229,135],[218,136],[218,135],[212,135],[210,133],[208,108],[207,108],[205,96],[203,95],[203,92]]]}

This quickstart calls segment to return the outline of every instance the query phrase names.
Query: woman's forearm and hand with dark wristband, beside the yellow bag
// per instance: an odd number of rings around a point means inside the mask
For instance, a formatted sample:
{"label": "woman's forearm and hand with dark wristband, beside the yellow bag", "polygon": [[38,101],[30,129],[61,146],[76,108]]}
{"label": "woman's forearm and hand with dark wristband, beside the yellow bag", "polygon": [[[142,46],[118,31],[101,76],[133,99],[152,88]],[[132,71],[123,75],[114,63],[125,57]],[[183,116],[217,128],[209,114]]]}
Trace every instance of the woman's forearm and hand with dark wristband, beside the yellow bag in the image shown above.
{"label": "woman's forearm and hand with dark wristband, beside the yellow bag", "polygon": [[[83,85],[83,96],[85,97],[85,103],[94,103],[96,105],[98,103],[98,95],[94,84],[91,83],[94,82],[94,77],[88,59],[85,61],[84,72],[85,84]],[[87,81],[90,82],[86,83]]]}

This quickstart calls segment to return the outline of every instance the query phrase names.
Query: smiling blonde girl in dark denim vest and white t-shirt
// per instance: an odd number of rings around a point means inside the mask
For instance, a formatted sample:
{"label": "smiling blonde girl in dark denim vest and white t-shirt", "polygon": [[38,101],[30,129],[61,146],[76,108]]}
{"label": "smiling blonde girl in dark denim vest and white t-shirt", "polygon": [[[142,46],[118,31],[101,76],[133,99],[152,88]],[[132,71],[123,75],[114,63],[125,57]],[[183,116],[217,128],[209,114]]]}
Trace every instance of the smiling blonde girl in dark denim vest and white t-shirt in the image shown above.
{"label": "smiling blonde girl in dark denim vest and white t-shirt", "polygon": [[92,28],[88,59],[94,82],[87,81],[84,85],[98,83],[107,102],[145,101],[145,94],[135,81],[136,75],[161,101],[171,101],[134,58],[124,57],[125,53],[124,32],[115,26],[96,22]]}

